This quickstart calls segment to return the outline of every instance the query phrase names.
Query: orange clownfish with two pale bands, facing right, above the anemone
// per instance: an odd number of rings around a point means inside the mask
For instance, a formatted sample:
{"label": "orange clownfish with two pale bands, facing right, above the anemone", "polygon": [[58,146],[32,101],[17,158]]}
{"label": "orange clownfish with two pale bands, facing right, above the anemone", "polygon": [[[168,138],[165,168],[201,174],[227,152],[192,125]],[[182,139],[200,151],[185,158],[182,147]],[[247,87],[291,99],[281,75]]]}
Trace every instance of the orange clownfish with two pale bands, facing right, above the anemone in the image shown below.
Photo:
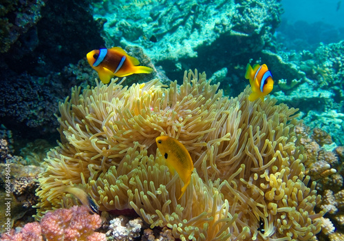
{"label": "orange clownfish with two pale bands, facing right, above the anemone", "polygon": [[274,81],[272,80],[272,74],[268,67],[264,65],[251,65],[248,63],[246,66],[245,78],[250,80],[252,88],[252,94],[248,96],[248,101],[255,101],[257,98],[261,98],[264,101],[264,96],[269,94],[274,87]]}

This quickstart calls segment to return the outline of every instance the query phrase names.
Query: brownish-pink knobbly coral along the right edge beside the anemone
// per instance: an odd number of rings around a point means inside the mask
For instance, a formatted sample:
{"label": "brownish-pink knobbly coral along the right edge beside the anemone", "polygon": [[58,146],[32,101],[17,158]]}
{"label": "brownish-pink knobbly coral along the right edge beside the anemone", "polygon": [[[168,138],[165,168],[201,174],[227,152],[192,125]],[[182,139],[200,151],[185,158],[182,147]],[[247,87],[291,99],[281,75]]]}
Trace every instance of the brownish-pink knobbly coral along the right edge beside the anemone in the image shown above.
{"label": "brownish-pink knobbly coral along the right edge beside the anemone", "polygon": [[316,180],[316,189],[323,196],[317,208],[327,211],[322,218],[319,238],[334,241],[344,233],[344,147],[334,148],[331,136],[319,128],[298,125],[295,132],[300,135],[300,144],[305,147],[305,174]]}

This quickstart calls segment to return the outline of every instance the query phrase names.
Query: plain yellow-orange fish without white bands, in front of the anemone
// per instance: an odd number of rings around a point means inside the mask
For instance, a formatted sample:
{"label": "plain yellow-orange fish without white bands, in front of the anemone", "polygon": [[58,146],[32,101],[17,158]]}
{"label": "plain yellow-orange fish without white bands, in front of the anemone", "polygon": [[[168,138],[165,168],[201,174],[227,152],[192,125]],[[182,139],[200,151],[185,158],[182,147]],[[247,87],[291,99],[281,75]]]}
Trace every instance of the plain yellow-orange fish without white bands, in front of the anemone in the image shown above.
{"label": "plain yellow-orange fish without white bands, in front of the anemone", "polygon": [[182,193],[180,198],[182,198],[186,187],[190,184],[191,174],[193,172],[193,160],[189,154],[189,151],[175,138],[169,136],[158,136],[155,138],[156,145],[162,156],[166,159],[166,165],[169,167],[171,173],[174,170],[178,172],[178,175],[184,182],[184,187],[182,187]]}

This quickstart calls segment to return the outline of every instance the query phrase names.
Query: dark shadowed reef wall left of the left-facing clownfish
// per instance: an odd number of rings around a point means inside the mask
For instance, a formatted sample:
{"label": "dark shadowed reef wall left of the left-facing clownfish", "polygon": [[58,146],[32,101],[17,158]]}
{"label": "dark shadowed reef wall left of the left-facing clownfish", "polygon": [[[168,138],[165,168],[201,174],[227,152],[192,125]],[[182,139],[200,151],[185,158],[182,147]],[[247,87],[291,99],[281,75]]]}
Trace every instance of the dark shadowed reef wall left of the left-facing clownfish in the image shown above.
{"label": "dark shadowed reef wall left of the left-facing clownfish", "polygon": [[58,101],[76,85],[63,67],[104,45],[101,25],[88,0],[6,0],[0,9],[0,124],[13,131],[16,144],[48,140],[56,134]]}

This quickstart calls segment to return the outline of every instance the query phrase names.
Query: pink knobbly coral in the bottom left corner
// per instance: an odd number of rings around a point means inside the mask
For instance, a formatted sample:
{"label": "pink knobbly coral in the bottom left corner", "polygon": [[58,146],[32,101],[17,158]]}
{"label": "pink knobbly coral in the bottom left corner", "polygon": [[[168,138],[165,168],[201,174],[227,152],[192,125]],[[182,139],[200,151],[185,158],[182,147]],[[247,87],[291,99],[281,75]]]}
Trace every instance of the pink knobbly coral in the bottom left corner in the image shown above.
{"label": "pink knobbly coral in the bottom left corner", "polygon": [[11,229],[1,234],[3,241],[102,241],[105,233],[95,232],[102,224],[98,214],[89,214],[87,207],[74,206],[48,212],[41,222],[25,224],[20,231]]}

